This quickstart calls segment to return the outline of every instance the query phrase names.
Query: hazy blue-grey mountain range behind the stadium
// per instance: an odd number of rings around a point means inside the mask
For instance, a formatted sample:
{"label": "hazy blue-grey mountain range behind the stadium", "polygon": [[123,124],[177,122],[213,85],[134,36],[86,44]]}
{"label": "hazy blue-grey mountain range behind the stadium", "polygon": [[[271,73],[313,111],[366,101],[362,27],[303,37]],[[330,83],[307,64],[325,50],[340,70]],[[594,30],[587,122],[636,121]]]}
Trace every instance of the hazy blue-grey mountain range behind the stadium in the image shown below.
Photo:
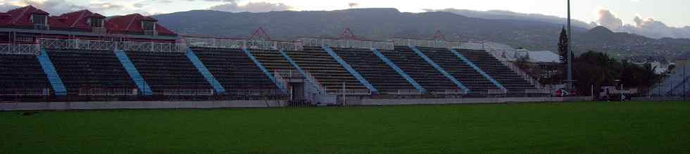
{"label": "hazy blue-grey mountain range behind the stadium", "polygon": [[[406,13],[396,8],[353,8],[265,13],[196,10],[154,15],[154,18],[178,34],[216,37],[247,37],[258,27],[263,27],[272,39],[282,40],[298,36],[334,37],[346,28],[363,39],[429,39],[434,32],[440,30],[450,40],[494,41],[532,51],[558,49],[558,36],[563,24],[513,16],[515,18],[506,18],[505,15],[502,18],[472,18],[446,11]],[[555,17],[546,17],[549,20],[554,20],[553,18]],[[594,50],[610,53],[617,58],[674,58],[684,51],[690,51],[690,39],[651,39],[637,34],[611,32],[606,27],[588,29],[575,26],[572,40],[576,53]]]}

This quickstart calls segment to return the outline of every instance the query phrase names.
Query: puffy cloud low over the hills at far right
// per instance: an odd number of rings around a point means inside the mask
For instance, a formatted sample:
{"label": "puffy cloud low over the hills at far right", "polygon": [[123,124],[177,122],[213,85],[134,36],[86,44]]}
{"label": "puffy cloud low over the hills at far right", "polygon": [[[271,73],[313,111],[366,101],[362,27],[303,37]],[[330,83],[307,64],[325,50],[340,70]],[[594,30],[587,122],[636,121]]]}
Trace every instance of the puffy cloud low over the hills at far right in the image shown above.
{"label": "puffy cloud low over the hills at far right", "polygon": [[620,18],[606,9],[598,11],[598,25],[607,27],[614,32],[628,32],[651,38],[690,38],[690,27],[670,27],[655,18],[642,18],[639,15],[633,18],[634,25],[623,24]]}

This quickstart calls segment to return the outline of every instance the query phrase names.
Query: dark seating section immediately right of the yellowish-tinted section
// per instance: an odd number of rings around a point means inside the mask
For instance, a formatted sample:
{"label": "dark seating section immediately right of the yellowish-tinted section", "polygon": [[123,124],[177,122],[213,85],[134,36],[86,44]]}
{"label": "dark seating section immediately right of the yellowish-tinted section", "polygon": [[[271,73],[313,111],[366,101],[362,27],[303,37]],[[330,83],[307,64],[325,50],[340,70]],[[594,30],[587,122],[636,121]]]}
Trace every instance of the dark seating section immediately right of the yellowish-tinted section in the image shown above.
{"label": "dark seating section immediately right of the yellowish-tinted section", "polygon": [[333,50],[375,86],[380,94],[400,94],[400,91],[415,89],[370,49],[333,48]]}

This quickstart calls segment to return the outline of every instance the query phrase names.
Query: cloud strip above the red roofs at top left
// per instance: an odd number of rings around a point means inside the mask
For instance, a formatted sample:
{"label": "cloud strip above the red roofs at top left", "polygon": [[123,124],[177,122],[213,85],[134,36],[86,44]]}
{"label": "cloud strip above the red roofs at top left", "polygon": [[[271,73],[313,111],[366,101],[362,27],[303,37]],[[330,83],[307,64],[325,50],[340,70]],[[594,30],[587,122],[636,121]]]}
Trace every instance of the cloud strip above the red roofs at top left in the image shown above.
{"label": "cloud strip above the red roofs at top left", "polygon": [[7,1],[0,4],[0,11],[5,12],[13,8],[19,8],[23,6],[32,5],[36,8],[40,8],[44,11],[51,13],[51,15],[60,15],[62,13],[68,13],[72,11],[80,11],[83,9],[89,9],[94,12],[102,12],[108,10],[119,10],[125,8],[122,5],[112,4],[112,3],[92,3],[86,6],[75,5],[65,0],[19,0],[19,1]]}

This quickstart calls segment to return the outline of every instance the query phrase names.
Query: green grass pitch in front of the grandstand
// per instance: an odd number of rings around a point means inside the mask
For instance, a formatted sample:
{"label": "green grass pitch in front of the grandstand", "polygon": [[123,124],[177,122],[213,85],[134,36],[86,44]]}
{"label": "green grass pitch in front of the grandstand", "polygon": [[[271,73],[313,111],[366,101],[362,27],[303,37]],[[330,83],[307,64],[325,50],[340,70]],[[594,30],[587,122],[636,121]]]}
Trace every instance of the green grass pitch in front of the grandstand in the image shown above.
{"label": "green grass pitch in front of the grandstand", "polygon": [[690,153],[690,103],[0,113],[0,153]]}

